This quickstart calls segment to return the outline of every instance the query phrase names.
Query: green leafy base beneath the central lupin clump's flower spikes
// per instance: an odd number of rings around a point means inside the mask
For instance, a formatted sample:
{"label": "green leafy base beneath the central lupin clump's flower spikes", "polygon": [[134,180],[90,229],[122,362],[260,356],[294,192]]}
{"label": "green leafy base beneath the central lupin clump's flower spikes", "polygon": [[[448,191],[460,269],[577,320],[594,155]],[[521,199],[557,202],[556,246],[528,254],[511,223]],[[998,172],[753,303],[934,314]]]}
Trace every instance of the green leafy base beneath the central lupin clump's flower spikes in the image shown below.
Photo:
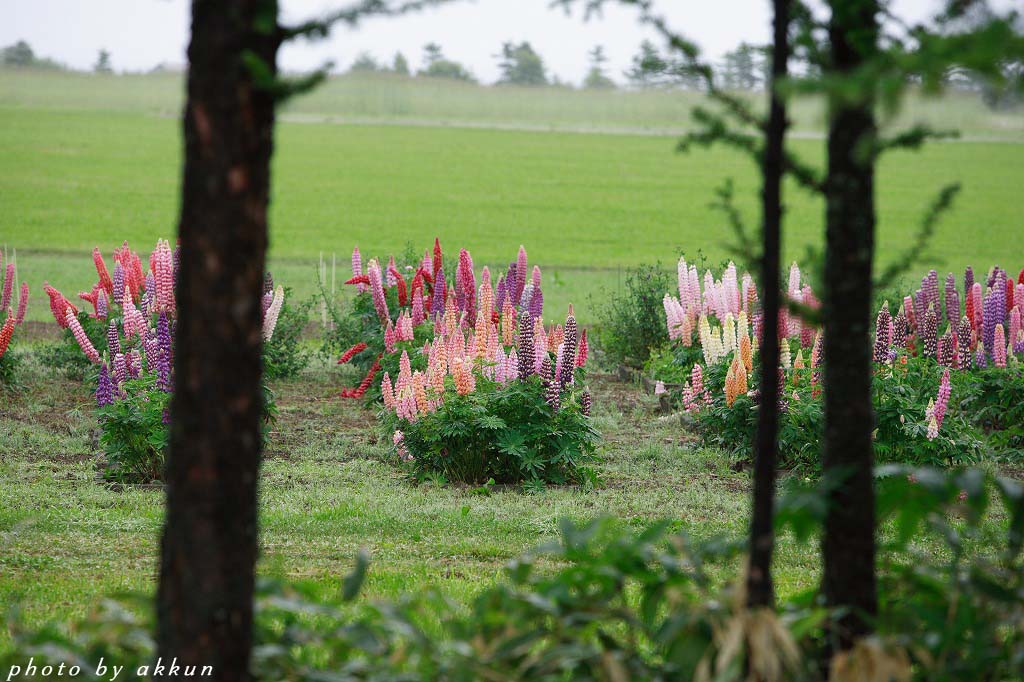
{"label": "green leafy base beneath the central lupin clump's flower spikes", "polygon": [[399,432],[415,475],[484,482],[579,482],[591,475],[598,434],[584,414],[579,390],[558,409],[548,402],[537,375],[501,384],[481,377],[460,395],[449,377],[446,397],[433,412],[408,422],[385,411],[382,424]]}

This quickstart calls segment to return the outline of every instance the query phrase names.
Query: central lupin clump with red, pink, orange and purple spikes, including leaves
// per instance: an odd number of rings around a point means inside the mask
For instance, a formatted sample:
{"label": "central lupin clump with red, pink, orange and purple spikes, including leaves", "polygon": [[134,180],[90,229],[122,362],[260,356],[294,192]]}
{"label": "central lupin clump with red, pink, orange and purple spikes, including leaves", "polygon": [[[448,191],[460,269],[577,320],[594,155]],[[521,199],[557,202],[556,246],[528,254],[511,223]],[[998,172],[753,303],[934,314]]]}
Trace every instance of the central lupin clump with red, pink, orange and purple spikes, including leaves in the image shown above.
{"label": "central lupin clump with red, pink, orange and purple spikes, including leaves", "polygon": [[522,247],[494,281],[460,250],[445,276],[440,244],[406,275],[391,258],[362,269],[341,319],[362,335],[339,359],[369,365],[346,397],[383,403],[380,421],[419,478],[580,482],[597,433],[584,385],[587,335],[571,309],[545,327],[541,269]]}

